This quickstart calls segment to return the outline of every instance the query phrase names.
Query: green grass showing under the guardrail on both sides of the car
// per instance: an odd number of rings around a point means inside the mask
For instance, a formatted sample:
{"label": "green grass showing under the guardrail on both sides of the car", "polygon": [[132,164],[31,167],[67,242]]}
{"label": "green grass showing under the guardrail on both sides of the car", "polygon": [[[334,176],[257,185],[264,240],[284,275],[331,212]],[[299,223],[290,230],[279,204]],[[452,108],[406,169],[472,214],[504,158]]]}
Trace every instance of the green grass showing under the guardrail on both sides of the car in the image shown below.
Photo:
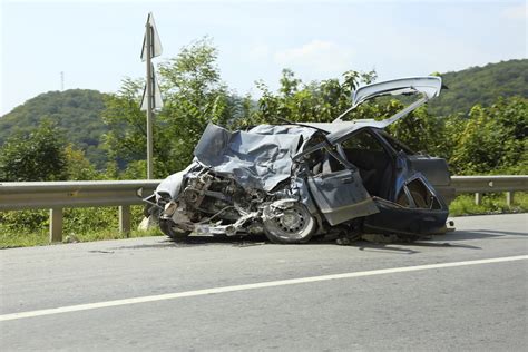
{"label": "green grass showing under the guardrail on both sides of the car", "polygon": [[[511,207],[505,194],[487,194],[481,205],[475,195],[458,196],[450,205],[450,216],[528,212],[528,193],[515,194]],[[140,232],[143,206],[131,207],[131,228],[128,234],[118,231],[117,207],[65,209],[63,242],[90,242],[163,235],[159,228]],[[0,248],[28,247],[49,244],[49,212],[19,211],[0,213]]]}

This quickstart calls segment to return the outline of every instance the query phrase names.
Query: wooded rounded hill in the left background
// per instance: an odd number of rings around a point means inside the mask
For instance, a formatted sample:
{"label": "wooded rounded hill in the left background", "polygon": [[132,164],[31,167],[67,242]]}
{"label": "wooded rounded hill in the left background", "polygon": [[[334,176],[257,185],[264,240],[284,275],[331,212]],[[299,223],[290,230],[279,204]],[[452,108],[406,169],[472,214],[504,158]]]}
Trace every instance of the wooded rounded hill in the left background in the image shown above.
{"label": "wooded rounded hill in the left background", "polygon": [[68,141],[85,150],[90,162],[102,167],[106,155],[99,148],[99,140],[107,131],[100,119],[104,109],[104,94],[97,90],[70,89],[41,94],[0,118],[0,146],[10,135],[28,131],[48,118],[65,131]]}

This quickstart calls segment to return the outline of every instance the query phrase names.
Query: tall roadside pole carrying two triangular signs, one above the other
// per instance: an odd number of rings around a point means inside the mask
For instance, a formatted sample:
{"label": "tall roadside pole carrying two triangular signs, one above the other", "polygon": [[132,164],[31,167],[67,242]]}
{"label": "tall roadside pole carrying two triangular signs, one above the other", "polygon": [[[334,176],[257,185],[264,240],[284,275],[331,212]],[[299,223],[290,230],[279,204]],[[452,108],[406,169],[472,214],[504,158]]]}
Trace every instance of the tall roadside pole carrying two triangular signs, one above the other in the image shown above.
{"label": "tall roadside pole carrying two triangular signs, one above the other", "polygon": [[148,13],[145,23],[145,37],[143,39],[141,60],[147,63],[147,79],[141,99],[141,110],[147,111],[147,178],[154,178],[154,110],[163,107],[162,92],[156,80],[156,72],[151,59],[162,55],[162,42],[159,40],[153,13]]}

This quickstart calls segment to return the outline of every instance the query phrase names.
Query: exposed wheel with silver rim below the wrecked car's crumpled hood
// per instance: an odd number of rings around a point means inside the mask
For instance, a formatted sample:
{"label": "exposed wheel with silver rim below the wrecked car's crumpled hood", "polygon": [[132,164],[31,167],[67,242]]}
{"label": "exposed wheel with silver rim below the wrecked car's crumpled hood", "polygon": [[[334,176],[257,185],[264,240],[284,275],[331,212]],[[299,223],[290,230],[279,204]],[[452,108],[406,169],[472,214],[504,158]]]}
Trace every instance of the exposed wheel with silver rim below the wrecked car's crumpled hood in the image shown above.
{"label": "exposed wheel with silver rim below the wrecked car's crumpled hood", "polygon": [[265,234],[273,243],[306,243],[315,232],[315,219],[303,204],[294,203],[286,208],[268,206],[265,213]]}

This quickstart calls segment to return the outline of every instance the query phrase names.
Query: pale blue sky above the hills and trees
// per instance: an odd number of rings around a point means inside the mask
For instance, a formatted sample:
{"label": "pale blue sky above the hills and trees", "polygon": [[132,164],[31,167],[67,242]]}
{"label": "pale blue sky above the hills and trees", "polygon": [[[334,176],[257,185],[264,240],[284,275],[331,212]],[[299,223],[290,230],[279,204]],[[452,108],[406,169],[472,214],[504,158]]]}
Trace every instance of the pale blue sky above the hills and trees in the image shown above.
{"label": "pale blue sky above the hills and trees", "polygon": [[155,62],[209,36],[222,79],[239,95],[272,89],[283,68],[309,82],[350,69],[378,80],[527,58],[527,2],[488,0],[145,1],[0,0],[0,115],[61,89],[117,91],[145,76],[149,11]]}

